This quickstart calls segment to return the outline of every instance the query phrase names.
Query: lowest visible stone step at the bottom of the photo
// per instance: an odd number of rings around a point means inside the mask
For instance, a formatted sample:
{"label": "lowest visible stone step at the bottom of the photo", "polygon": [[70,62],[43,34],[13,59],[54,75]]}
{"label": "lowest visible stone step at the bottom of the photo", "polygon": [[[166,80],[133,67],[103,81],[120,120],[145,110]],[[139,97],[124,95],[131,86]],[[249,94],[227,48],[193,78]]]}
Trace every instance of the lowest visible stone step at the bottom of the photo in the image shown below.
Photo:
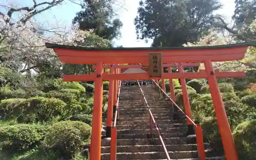
{"label": "lowest visible stone step at the bottom of the photo", "polygon": [[[207,152],[207,151],[206,151]],[[209,152],[209,151],[208,151]],[[198,158],[197,151],[168,151],[171,159],[186,159],[186,158]],[[124,152],[117,153],[117,160],[125,159],[164,159],[166,158],[165,152]],[[101,159],[110,159],[110,153],[102,153]]]}

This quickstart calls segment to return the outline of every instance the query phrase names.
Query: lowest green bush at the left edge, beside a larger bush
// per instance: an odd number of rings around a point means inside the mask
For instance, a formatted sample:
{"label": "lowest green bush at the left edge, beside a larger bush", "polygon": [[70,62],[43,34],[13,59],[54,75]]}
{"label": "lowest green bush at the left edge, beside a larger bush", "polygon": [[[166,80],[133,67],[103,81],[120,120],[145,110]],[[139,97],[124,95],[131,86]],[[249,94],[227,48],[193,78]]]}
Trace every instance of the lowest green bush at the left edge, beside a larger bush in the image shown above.
{"label": "lowest green bush at the left edge, beside a larger bush", "polygon": [[45,127],[34,124],[15,124],[0,128],[1,149],[11,151],[24,151],[39,147],[44,139]]}

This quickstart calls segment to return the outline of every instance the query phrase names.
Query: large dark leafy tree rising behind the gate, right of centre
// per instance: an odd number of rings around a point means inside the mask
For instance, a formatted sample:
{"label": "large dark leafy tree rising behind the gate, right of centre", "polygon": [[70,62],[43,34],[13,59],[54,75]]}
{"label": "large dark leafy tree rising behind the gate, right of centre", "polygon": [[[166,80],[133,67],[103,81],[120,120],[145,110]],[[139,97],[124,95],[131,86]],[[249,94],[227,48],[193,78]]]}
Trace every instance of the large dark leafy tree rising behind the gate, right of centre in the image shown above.
{"label": "large dark leafy tree rising behind the gate, right of centre", "polygon": [[[221,7],[218,0],[140,1],[134,20],[137,38],[154,39],[152,46],[181,46],[206,34]],[[141,35],[140,35],[141,34]]]}

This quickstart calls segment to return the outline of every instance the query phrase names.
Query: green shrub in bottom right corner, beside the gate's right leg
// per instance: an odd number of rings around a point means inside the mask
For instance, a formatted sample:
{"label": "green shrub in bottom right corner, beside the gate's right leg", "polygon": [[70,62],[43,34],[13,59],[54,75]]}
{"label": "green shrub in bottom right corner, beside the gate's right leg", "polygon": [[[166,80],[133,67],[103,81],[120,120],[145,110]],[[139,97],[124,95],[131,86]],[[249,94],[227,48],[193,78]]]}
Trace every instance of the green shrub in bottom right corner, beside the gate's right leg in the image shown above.
{"label": "green shrub in bottom right corner, beside the gate's right leg", "polygon": [[254,160],[256,155],[256,120],[240,123],[233,131],[239,159]]}

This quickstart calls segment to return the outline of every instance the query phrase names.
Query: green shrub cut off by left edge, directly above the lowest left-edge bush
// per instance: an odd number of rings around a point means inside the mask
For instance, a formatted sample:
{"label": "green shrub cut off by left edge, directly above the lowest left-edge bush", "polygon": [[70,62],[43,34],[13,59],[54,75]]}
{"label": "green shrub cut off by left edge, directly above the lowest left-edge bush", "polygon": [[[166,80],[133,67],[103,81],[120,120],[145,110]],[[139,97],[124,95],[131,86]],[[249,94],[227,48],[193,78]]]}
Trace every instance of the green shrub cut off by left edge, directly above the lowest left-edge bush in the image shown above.
{"label": "green shrub cut off by left edge, directly above the lowest left-edge bush", "polygon": [[7,120],[11,118],[16,118],[24,112],[19,104],[24,102],[26,99],[14,98],[14,99],[4,99],[0,103],[0,116],[2,119]]}

